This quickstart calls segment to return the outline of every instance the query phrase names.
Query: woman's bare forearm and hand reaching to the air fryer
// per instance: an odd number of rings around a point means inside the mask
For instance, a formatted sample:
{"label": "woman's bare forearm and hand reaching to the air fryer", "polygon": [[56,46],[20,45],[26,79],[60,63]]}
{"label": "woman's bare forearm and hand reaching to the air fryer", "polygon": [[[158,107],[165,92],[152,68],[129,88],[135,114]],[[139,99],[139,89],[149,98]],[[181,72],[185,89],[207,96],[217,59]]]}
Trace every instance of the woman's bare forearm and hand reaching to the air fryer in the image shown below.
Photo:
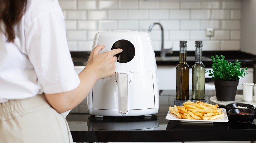
{"label": "woman's bare forearm and hand reaching to the air fryer", "polygon": [[97,45],[95,49],[92,50],[86,67],[78,74],[80,79],[78,87],[62,93],[45,93],[47,101],[57,112],[63,113],[73,109],[86,98],[97,80],[115,74],[115,62],[117,61],[115,55],[121,53],[122,49],[115,49],[99,54],[100,50],[104,47],[105,45]]}

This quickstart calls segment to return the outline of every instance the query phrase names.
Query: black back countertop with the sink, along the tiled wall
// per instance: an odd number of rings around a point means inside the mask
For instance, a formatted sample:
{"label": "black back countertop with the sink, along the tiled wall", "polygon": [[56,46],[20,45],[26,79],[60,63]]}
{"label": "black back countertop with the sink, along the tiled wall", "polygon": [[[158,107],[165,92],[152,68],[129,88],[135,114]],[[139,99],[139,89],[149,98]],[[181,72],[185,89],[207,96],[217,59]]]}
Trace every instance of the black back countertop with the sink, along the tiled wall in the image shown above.
{"label": "black back countertop with the sink, along the tiled wall", "polygon": [[[85,66],[90,52],[71,52],[71,56],[75,66]],[[238,59],[242,67],[254,67],[256,64],[256,56],[247,54],[241,51],[203,51],[203,64],[206,68],[212,67],[212,55],[224,55],[225,59],[234,62]],[[165,59],[160,57],[160,51],[155,51],[157,66],[176,66],[179,63],[179,51],[174,51],[173,54],[166,54]],[[192,67],[195,63],[195,52],[187,51],[187,64]]]}

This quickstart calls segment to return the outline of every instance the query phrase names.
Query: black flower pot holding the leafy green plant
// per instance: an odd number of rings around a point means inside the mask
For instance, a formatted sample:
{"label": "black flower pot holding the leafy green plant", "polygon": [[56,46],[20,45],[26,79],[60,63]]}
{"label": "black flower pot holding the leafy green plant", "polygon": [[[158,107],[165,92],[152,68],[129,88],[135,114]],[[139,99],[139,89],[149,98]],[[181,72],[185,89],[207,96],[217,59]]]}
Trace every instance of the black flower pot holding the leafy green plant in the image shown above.
{"label": "black flower pot holding the leafy green plant", "polygon": [[214,80],[216,98],[218,101],[235,101],[239,80],[222,81]]}

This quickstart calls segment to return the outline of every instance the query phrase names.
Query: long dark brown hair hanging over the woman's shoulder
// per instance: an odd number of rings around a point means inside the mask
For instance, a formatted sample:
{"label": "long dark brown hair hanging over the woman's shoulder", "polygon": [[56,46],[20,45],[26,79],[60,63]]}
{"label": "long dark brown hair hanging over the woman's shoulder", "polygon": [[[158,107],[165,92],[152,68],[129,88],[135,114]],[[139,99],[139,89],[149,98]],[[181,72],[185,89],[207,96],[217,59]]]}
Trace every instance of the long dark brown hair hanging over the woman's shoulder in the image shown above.
{"label": "long dark brown hair hanging over the woman's shoulder", "polygon": [[14,26],[26,11],[27,0],[0,0],[0,22],[3,22],[7,42],[14,42]]}

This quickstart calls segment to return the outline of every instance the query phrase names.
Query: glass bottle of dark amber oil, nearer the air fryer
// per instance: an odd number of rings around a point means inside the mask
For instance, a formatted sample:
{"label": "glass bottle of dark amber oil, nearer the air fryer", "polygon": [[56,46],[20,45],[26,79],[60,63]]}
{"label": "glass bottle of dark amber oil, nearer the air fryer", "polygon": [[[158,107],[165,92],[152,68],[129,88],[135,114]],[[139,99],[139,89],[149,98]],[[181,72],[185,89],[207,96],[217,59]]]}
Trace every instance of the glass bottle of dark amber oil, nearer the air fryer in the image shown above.
{"label": "glass bottle of dark amber oil, nearer the air fryer", "polygon": [[187,41],[180,41],[180,62],[176,66],[176,100],[189,99],[189,66]]}

